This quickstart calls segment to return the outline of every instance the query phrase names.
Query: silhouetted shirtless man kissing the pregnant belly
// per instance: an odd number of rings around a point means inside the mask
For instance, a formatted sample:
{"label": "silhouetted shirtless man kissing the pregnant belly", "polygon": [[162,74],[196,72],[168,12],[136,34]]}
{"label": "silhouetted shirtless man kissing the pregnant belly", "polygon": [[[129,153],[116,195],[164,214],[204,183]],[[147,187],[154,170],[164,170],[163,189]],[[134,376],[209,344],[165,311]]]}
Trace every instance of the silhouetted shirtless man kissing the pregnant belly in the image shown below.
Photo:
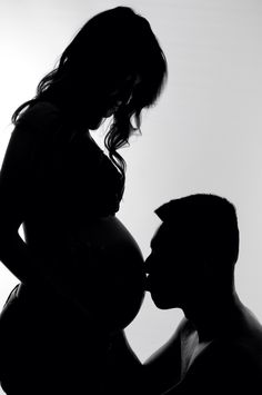
{"label": "silhouetted shirtless man kissing the pregnant belly", "polygon": [[261,394],[262,326],[234,285],[239,228],[234,206],[190,195],[155,210],[148,290],[157,307],[181,308],[170,340],[143,365],[148,394]]}

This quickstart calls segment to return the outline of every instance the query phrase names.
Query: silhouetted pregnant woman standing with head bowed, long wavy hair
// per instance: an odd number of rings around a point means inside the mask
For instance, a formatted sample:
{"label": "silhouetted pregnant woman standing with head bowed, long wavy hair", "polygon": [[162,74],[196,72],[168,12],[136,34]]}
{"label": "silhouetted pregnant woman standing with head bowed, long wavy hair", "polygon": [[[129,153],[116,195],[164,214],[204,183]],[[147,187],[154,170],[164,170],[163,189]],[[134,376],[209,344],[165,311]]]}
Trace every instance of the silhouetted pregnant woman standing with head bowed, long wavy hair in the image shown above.
{"label": "silhouetted pregnant woman standing with head bowed, long wavy hair", "polygon": [[[20,282],[0,316],[8,395],[108,393],[111,338],[135,317],[144,288],[141,251],[115,217],[118,149],[165,80],[149,22],[118,7],[83,26],[16,110],[0,174],[0,259]],[[90,130],[109,117],[104,154]]]}

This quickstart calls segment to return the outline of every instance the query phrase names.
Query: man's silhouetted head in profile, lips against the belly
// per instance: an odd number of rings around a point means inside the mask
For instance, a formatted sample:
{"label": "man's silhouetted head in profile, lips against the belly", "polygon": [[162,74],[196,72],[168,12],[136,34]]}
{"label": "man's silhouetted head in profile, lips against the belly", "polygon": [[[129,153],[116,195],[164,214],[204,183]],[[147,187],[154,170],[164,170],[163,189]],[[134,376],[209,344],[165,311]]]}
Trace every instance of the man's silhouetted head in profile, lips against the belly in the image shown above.
{"label": "man's silhouetted head in profile, lips against the belly", "polygon": [[162,220],[147,259],[148,288],[160,308],[232,286],[239,254],[234,206],[215,195],[190,195],[155,210]]}

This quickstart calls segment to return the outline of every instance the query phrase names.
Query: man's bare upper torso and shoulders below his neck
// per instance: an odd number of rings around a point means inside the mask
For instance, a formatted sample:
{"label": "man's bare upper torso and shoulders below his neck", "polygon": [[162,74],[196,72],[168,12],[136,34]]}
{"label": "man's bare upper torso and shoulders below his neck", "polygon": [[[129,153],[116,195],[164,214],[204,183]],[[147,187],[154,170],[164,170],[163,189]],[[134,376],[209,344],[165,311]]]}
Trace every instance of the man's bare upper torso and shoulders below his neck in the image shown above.
{"label": "man's bare upper torso and shoulders below his neck", "polygon": [[[200,342],[188,323],[181,332],[181,381],[170,394],[216,394],[222,389],[250,389],[262,375],[262,326],[243,306],[235,325],[224,323],[216,338]],[[260,387],[261,388],[261,387]],[[259,389],[259,387],[258,387]]]}

